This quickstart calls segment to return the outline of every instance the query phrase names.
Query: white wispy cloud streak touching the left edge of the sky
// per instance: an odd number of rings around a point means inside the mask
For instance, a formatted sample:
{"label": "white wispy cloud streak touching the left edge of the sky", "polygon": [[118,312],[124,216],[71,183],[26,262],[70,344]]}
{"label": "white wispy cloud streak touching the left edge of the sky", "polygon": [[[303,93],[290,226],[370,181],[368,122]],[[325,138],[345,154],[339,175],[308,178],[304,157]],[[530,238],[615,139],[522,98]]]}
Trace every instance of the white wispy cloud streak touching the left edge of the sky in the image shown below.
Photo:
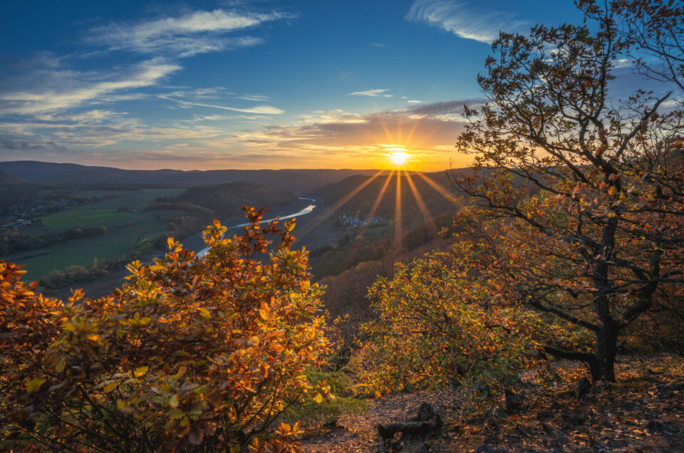
{"label": "white wispy cloud streak touching the left edge of the sky", "polygon": [[152,58],[108,73],[43,68],[13,80],[0,91],[0,115],[39,115],[95,102],[108,95],[155,85],[180,66]]}

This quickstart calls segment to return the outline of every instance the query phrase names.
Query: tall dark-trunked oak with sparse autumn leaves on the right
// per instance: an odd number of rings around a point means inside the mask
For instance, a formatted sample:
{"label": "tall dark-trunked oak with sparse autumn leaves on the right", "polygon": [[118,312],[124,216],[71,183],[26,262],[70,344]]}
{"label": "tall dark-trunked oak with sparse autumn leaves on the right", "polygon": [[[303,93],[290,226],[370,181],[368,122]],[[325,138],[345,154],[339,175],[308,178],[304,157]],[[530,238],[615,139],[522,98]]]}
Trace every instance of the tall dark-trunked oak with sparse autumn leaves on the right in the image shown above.
{"label": "tall dark-trunked oak with sparse autumn leaves on the right", "polygon": [[[494,41],[478,77],[489,102],[466,109],[457,142],[475,176],[453,183],[498,221],[506,304],[592,335],[592,348],[545,349],[614,380],[618,337],[684,283],[682,6],[578,6],[585,25]],[[624,61],[653,90],[621,94]]]}

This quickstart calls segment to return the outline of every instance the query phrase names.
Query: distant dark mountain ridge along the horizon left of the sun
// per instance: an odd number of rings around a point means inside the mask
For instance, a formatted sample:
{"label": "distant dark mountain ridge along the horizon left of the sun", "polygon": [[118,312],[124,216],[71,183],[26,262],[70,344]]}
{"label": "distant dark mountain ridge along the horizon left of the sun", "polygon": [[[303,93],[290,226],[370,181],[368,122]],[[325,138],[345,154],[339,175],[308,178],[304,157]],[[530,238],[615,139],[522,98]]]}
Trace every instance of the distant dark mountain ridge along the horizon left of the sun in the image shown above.
{"label": "distant dark mountain ridge along the horizon left of the sun", "polygon": [[18,160],[0,162],[0,171],[28,182],[47,184],[162,184],[193,187],[226,182],[271,184],[299,194],[351,175],[375,175],[378,170],[123,170],[79,164]]}

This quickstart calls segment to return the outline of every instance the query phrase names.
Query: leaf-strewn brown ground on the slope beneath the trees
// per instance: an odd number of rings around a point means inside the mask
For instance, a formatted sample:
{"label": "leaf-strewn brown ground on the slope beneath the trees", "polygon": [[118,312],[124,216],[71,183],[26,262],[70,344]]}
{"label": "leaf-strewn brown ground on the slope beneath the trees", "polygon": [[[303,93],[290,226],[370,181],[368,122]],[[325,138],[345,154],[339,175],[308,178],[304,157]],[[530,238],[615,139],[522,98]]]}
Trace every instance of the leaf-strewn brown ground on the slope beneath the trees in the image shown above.
{"label": "leaf-strewn brown ground on the slope beneath the trees", "polygon": [[[565,377],[581,367],[555,363]],[[500,417],[465,416],[457,390],[415,392],[375,400],[368,412],[338,417],[310,431],[304,452],[684,452],[684,359],[622,357],[618,380],[577,399],[574,381],[537,385],[523,379],[521,409]],[[383,443],[376,425],[402,422],[430,402],[445,420],[426,436]]]}

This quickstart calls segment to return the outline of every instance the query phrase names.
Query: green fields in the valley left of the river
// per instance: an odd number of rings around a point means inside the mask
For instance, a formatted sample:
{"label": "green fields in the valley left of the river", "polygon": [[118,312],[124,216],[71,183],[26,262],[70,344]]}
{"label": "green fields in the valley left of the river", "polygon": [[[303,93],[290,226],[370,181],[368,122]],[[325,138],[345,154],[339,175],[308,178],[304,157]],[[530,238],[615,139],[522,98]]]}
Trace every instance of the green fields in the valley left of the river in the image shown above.
{"label": "green fields in the valley left of the river", "polygon": [[[76,209],[42,217],[43,227],[33,228],[41,234],[65,231],[73,227],[104,225],[107,231],[96,236],[63,241],[43,249],[25,251],[4,259],[26,265],[26,280],[37,280],[56,269],[68,266],[88,266],[93,259],[121,256],[142,238],[154,239],[169,231],[165,220],[172,211],[144,211],[158,197],[173,197],[185,189],[142,189],[127,191],[83,191],[83,197],[103,197],[116,193],[118,197],[103,199]],[[130,207],[132,212],[116,212],[118,207]],[[27,228],[28,230],[28,228]]]}

